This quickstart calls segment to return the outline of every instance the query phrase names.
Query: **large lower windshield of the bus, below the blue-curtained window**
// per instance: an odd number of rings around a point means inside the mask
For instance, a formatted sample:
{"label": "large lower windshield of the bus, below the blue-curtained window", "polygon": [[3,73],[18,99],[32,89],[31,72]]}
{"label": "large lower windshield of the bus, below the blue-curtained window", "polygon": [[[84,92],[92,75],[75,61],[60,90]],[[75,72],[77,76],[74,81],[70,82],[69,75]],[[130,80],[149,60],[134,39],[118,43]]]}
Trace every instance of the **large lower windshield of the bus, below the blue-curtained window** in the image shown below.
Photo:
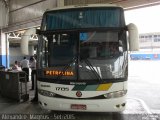
{"label": "large lower windshield of the bus, below the blue-curtained window", "polygon": [[[42,35],[43,68],[52,68],[52,78],[98,80],[124,77],[127,60],[125,31],[64,32]],[[78,69],[78,70],[77,70]],[[69,74],[69,73],[68,73]]]}

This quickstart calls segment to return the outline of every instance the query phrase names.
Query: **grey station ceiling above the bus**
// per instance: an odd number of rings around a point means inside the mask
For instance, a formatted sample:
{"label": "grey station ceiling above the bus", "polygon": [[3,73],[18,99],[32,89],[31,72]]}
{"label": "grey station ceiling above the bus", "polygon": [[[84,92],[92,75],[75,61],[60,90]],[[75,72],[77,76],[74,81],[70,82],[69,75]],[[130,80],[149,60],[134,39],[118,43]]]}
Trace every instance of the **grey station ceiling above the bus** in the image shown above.
{"label": "grey station ceiling above the bus", "polygon": [[[31,26],[40,25],[41,16],[44,11],[42,9],[56,6],[56,2],[57,2],[57,7],[58,7],[58,3],[62,3],[62,5],[60,6],[110,3],[110,4],[118,4],[122,6],[125,10],[138,9],[141,7],[154,6],[154,5],[160,4],[160,0],[34,0],[34,1],[12,0],[10,2],[9,0],[3,0],[3,1],[6,3],[6,5],[7,3],[9,5],[9,8],[10,8],[9,21],[11,22],[9,23],[8,27],[3,29],[4,32],[10,32],[10,31],[15,31],[20,29],[22,30],[23,28],[29,28]],[[29,12],[28,10],[34,11],[34,12]],[[23,16],[23,19],[22,17],[19,17],[19,14],[21,12],[23,12],[25,15],[24,16],[21,14],[21,16]],[[30,18],[32,19],[30,20]],[[11,39],[13,37],[11,36]]]}

